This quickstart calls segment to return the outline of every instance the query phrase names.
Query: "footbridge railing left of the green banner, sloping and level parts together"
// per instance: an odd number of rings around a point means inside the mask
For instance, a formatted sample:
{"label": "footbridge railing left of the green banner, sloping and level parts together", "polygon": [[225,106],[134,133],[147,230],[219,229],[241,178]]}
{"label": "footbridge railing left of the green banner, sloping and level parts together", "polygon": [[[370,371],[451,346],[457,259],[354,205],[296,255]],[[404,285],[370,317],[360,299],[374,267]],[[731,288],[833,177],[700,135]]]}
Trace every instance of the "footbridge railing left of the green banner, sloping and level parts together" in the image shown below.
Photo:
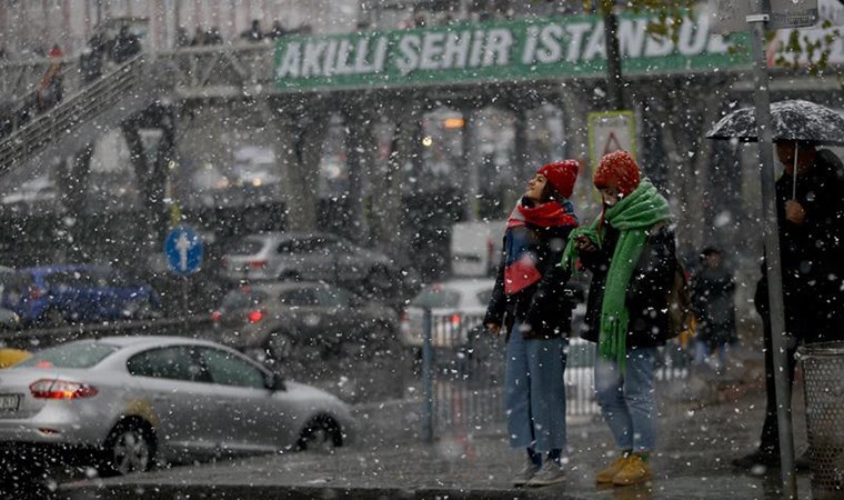
{"label": "footbridge railing left of the green banner, sloping and level parts together", "polygon": [[149,103],[162,92],[188,99],[243,98],[267,92],[272,88],[273,53],[272,46],[260,44],[139,54],[88,84],[83,83],[79,60],[68,60],[62,62],[61,73],[63,91],[69,97],[38,114],[36,109],[29,112],[23,108],[31,108],[30,104],[37,101],[37,83],[24,84],[23,80],[31,80],[33,72],[38,72],[40,79],[50,61],[2,64],[2,68],[16,71],[0,78],[0,88],[7,94],[21,97],[14,98],[14,104],[6,113],[6,126],[11,129],[4,131],[7,136],[0,137],[0,174],[70,136],[78,144],[84,143],[88,138],[77,129],[118,107],[127,110],[123,114],[137,111],[137,106],[128,104],[129,98],[134,101],[147,98]]}

